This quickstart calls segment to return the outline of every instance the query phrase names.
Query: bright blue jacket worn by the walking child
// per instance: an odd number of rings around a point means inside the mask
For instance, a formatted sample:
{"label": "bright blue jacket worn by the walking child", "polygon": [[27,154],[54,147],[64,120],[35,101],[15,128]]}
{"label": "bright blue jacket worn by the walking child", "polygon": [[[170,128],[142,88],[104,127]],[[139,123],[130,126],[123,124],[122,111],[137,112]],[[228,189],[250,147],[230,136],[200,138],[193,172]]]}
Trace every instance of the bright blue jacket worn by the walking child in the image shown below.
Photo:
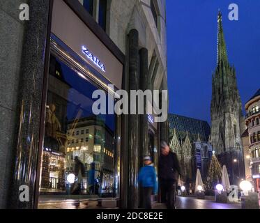
{"label": "bright blue jacket worn by the walking child", "polygon": [[144,166],[140,169],[139,183],[142,187],[153,187],[153,193],[156,194],[158,190],[157,178],[155,168],[153,165]]}

